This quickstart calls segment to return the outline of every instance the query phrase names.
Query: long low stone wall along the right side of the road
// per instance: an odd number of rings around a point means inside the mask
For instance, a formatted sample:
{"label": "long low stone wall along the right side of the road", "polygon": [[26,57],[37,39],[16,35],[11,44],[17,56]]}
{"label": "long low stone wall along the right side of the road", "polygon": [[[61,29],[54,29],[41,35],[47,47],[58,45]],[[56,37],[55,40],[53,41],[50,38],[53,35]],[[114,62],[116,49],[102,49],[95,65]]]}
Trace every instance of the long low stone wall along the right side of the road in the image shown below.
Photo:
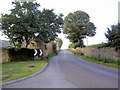
{"label": "long low stone wall along the right side of the road", "polygon": [[77,48],[71,49],[77,53],[84,53],[86,56],[106,57],[114,60],[120,60],[120,50],[115,48]]}

